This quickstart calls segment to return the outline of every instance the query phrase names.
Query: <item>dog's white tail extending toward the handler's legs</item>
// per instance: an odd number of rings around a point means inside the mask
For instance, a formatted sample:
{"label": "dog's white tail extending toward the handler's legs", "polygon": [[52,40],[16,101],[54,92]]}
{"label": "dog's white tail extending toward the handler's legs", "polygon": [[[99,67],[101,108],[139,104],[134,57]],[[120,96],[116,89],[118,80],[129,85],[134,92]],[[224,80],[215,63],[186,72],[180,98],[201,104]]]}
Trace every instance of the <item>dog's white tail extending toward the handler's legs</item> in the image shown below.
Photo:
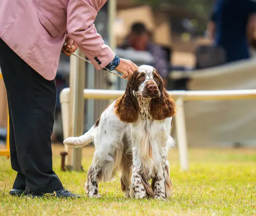
{"label": "dog's white tail extending toward the handler's legs", "polygon": [[65,139],[63,141],[63,143],[68,146],[75,147],[75,148],[83,147],[83,146],[89,144],[91,141],[93,141],[93,138],[96,134],[97,129],[98,129],[98,127],[96,127],[94,125],[84,135],[81,135],[79,137],[69,137],[69,138]]}

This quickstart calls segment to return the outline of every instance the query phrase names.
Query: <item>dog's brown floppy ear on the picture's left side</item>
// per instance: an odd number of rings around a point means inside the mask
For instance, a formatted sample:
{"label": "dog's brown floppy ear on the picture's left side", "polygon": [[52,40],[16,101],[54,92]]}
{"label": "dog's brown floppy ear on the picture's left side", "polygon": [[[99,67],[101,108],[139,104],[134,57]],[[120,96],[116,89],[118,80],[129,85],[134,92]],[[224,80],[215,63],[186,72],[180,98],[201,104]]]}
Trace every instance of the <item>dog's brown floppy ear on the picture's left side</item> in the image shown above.
{"label": "dog's brown floppy ear on the picture's left side", "polygon": [[126,86],[124,95],[117,99],[115,104],[115,114],[125,123],[136,122],[139,118],[139,104],[134,96],[134,78],[131,77]]}

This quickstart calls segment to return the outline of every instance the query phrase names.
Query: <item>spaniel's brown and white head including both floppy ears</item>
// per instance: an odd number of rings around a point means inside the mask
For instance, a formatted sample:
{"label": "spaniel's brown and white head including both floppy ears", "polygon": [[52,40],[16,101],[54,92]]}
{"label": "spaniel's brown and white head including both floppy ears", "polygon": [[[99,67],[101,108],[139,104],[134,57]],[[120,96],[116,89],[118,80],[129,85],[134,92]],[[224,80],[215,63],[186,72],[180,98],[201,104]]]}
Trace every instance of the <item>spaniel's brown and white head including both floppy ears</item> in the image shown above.
{"label": "spaniel's brown and white head including both floppy ears", "polygon": [[138,97],[151,99],[149,110],[155,120],[175,115],[175,103],[163,88],[163,79],[152,66],[138,67],[127,83],[125,94],[116,101],[115,113],[121,121],[132,123],[138,120]]}

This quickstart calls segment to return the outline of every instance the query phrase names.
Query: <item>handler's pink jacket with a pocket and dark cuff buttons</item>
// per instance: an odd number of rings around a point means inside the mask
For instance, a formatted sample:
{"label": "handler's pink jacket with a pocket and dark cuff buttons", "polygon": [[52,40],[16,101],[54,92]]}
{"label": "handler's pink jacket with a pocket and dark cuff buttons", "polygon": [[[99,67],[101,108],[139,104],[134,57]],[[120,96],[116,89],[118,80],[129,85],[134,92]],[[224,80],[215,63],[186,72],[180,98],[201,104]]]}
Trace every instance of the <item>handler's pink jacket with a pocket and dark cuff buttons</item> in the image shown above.
{"label": "handler's pink jacket with a pocket and dark cuff buttons", "polygon": [[0,37],[47,80],[55,78],[67,33],[101,69],[115,57],[93,24],[106,1],[0,0]]}

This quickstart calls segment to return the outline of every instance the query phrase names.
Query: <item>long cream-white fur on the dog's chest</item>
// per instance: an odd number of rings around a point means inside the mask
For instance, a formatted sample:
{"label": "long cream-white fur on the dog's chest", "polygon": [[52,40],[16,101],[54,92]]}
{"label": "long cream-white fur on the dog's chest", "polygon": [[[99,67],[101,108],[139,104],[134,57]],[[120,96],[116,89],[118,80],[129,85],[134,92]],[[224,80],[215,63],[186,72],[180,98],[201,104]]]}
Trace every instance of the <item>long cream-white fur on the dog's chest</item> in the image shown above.
{"label": "long cream-white fur on the dog's chest", "polygon": [[[169,121],[171,124],[172,119]],[[159,171],[163,153],[173,144],[169,131],[170,128],[163,121],[145,119],[131,124],[133,150],[136,152],[133,162],[140,167],[147,179],[154,177]]]}

